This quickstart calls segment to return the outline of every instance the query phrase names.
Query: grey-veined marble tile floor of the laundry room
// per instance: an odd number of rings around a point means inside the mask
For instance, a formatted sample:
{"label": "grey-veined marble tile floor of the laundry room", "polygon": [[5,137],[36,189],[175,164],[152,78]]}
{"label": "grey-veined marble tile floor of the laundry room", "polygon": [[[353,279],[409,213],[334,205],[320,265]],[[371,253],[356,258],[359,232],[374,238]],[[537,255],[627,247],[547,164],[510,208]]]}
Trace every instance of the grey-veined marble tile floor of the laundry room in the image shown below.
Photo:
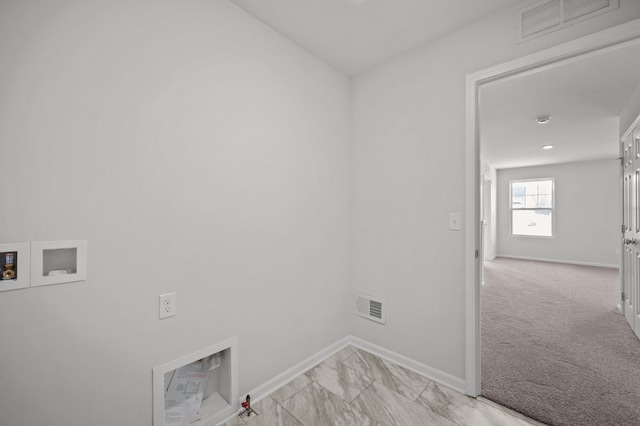
{"label": "grey-veined marble tile floor of the laundry room", "polygon": [[236,416],[225,426],[541,425],[353,346],[252,407],[256,416]]}

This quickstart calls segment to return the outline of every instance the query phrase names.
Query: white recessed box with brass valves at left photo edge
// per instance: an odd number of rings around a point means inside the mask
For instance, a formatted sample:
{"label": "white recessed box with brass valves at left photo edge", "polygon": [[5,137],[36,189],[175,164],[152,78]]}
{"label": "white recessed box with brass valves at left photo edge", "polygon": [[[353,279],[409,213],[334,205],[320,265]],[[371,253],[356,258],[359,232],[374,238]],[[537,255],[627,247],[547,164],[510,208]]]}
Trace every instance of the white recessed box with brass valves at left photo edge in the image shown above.
{"label": "white recessed box with brass valves at left photo edge", "polygon": [[0,244],[0,291],[29,287],[30,258],[29,243]]}

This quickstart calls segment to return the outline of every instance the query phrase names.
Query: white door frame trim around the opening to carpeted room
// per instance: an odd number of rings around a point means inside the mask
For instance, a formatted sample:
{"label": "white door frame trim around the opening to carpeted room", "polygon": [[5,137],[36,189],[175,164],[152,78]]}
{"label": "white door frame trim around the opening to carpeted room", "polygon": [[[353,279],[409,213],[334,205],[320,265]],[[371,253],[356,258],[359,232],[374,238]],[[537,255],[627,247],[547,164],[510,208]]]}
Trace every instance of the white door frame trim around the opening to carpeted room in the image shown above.
{"label": "white door frame trim around the opening to carpeted room", "polygon": [[465,391],[480,394],[480,277],[482,268],[480,212],[480,87],[496,80],[537,73],[588,55],[640,40],[640,19],[563,43],[537,53],[467,75],[465,133]]}

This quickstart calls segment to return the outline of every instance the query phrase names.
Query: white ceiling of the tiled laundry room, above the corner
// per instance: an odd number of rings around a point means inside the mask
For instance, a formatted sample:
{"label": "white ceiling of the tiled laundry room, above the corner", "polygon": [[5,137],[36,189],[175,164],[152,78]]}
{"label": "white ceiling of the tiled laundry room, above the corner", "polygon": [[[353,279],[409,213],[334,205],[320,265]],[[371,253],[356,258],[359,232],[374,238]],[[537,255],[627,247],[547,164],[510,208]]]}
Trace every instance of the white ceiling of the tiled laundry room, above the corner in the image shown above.
{"label": "white ceiling of the tiled laundry room, above the corner", "polygon": [[355,75],[522,0],[231,0]]}

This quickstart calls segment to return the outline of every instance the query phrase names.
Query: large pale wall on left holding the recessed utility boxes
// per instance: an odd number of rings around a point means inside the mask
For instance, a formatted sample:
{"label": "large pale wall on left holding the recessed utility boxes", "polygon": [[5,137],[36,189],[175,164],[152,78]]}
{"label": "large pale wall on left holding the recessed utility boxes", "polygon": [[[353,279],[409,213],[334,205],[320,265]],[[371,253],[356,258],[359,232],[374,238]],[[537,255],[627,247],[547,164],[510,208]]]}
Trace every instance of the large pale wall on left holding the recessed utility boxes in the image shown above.
{"label": "large pale wall on left holding the recessed utility boxes", "polygon": [[238,336],[244,393],[346,335],[345,76],[222,0],[5,0],[0,40],[0,242],[89,242],[0,293],[0,424],[150,425],[154,366]]}

